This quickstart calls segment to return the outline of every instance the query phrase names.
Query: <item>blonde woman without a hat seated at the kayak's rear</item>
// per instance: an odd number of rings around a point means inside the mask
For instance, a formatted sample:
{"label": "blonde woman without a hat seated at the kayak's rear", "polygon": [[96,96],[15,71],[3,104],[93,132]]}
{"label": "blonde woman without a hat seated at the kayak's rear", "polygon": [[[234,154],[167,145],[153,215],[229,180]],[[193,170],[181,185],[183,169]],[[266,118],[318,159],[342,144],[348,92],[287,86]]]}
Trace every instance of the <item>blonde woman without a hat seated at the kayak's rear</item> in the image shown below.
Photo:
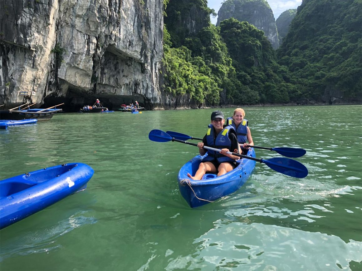
{"label": "blonde woman without a hat seated at the kayak's rear", "polygon": [[[232,117],[227,118],[226,125],[231,125],[236,130],[237,141],[241,145],[241,151],[243,154],[247,154],[248,145],[254,146],[253,138],[251,136],[250,129],[248,127],[248,120],[244,119],[245,111],[242,108],[236,108]],[[247,141],[249,143],[247,143]]]}

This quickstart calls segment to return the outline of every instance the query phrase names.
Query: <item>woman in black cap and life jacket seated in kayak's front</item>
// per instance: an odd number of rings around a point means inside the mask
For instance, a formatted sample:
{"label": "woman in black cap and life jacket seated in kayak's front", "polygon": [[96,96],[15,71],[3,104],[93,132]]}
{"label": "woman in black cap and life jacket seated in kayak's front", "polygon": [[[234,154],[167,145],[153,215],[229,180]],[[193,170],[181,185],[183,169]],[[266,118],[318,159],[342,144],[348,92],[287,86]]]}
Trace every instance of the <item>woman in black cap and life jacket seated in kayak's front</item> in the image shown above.
{"label": "woman in black cap and life jacket seated in kayak's front", "polygon": [[[237,142],[235,129],[228,125],[223,127],[225,123],[223,112],[216,110],[211,113],[211,124],[208,126],[206,135],[203,137],[202,142],[199,142],[200,155],[208,155],[203,158],[202,163],[199,164],[195,176],[187,173],[187,176],[193,180],[201,180],[205,173],[217,173],[218,176],[232,171],[236,167],[235,160],[239,156],[227,154],[227,151],[240,153],[239,142]],[[221,152],[204,149],[204,146],[221,149]]]}

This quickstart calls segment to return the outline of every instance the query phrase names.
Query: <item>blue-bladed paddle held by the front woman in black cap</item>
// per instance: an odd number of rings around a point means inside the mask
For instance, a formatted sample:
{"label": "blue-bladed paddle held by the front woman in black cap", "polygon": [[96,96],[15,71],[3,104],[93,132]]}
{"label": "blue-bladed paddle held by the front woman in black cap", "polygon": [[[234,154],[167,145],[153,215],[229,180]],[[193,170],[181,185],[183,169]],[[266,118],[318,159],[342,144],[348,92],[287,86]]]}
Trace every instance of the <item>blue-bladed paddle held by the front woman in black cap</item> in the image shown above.
{"label": "blue-bladed paddle held by the front woman in black cap", "polygon": [[[168,142],[168,141],[176,141],[192,146],[197,146],[197,144],[187,142],[181,139],[177,139],[174,137],[169,136],[169,134],[161,131],[161,130],[152,130],[148,134],[148,138],[155,142]],[[220,152],[220,149],[215,149],[212,147],[204,146],[204,149],[213,150]],[[298,161],[295,161],[293,159],[289,158],[283,158],[283,157],[276,157],[276,158],[270,158],[270,159],[258,159],[251,156],[238,154],[235,152],[228,151],[227,154],[232,154],[235,156],[239,156],[246,159],[251,159],[260,163],[266,164],[271,169],[280,172],[282,174],[285,174],[287,176],[296,177],[296,178],[304,178],[308,175],[308,169],[303,165],[302,163],[299,163]]]}

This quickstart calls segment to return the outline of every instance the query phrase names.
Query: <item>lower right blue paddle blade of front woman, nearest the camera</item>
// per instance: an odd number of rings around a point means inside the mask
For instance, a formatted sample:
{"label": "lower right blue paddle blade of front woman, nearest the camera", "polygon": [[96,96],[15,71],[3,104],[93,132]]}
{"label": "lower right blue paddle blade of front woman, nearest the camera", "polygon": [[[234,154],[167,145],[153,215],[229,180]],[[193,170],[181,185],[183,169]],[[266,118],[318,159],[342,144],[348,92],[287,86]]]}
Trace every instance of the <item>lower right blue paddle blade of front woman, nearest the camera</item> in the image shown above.
{"label": "lower right blue paddle blade of front woman, nearest the camera", "polygon": [[304,178],[308,175],[308,169],[305,165],[293,159],[275,157],[268,160],[261,159],[260,162],[287,176]]}

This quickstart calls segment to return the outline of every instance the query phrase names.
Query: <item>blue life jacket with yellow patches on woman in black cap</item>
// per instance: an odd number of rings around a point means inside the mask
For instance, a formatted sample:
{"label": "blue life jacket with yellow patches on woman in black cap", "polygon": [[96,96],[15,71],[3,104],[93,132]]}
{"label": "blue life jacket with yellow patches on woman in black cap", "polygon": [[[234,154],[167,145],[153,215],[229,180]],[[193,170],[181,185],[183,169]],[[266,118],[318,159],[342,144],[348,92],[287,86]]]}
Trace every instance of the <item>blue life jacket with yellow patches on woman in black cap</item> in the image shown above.
{"label": "blue life jacket with yellow patches on woman in black cap", "polygon": [[[229,138],[229,133],[230,130],[233,130],[235,132],[235,129],[228,125],[226,126],[215,138],[215,142],[214,142],[214,126],[212,126],[212,124],[209,124],[209,129],[207,130],[206,133],[206,141],[207,141],[207,146],[215,148],[215,149],[229,149],[229,151],[233,152],[233,150],[231,150],[231,140]],[[235,162],[234,159],[231,159],[223,154],[220,154],[220,152],[218,151],[213,151],[213,150],[207,150],[208,155],[202,159],[202,162],[208,162],[208,161],[213,161],[215,159],[218,160],[219,163],[223,163],[223,162]]]}

